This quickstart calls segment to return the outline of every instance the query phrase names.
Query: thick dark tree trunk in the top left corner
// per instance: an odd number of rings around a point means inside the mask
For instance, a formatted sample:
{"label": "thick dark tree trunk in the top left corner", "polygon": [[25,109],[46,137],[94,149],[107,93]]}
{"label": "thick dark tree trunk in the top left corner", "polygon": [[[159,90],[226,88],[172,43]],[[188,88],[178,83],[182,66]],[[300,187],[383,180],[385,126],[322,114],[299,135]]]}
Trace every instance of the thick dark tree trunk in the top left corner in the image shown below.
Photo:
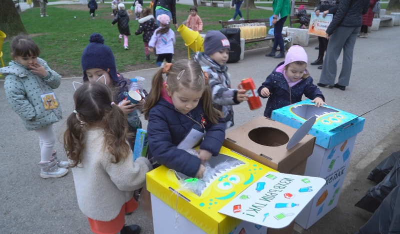
{"label": "thick dark tree trunk in the top left corner", "polygon": [[3,0],[0,7],[0,18],[0,28],[7,37],[10,38],[21,32],[27,34],[12,0]]}

